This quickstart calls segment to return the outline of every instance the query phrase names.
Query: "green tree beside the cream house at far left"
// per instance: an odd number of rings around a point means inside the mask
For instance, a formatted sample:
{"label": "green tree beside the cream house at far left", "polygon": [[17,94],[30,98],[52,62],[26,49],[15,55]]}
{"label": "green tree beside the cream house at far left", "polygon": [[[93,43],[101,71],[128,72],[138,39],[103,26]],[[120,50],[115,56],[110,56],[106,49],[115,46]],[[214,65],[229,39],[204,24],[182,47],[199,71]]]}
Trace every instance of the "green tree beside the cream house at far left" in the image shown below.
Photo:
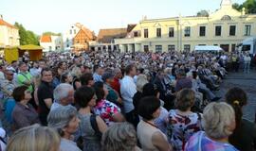
{"label": "green tree beside the cream house at far left", "polygon": [[19,23],[14,24],[19,29],[19,36],[20,36],[20,44],[35,44],[39,45],[39,38],[38,36],[30,30],[26,30],[26,28]]}

